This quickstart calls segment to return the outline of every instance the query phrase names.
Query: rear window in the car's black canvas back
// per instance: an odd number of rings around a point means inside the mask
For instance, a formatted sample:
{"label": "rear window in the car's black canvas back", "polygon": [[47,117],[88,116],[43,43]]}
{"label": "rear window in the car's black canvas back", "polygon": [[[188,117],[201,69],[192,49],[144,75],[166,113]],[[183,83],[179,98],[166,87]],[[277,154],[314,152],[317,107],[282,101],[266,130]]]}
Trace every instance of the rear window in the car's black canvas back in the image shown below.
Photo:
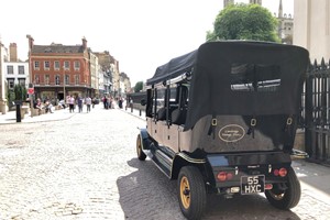
{"label": "rear window in the car's black canvas back", "polygon": [[233,91],[278,91],[280,67],[263,64],[232,64],[231,90]]}

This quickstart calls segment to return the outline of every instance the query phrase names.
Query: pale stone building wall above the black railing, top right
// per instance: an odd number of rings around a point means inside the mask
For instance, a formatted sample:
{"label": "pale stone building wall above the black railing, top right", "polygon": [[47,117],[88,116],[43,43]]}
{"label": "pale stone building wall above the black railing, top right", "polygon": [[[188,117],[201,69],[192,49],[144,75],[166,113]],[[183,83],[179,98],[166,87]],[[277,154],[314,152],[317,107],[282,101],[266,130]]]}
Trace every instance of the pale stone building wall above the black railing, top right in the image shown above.
{"label": "pale stone building wall above the black railing, top right", "polygon": [[330,58],[330,0],[295,0],[294,44],[318,63]]}

